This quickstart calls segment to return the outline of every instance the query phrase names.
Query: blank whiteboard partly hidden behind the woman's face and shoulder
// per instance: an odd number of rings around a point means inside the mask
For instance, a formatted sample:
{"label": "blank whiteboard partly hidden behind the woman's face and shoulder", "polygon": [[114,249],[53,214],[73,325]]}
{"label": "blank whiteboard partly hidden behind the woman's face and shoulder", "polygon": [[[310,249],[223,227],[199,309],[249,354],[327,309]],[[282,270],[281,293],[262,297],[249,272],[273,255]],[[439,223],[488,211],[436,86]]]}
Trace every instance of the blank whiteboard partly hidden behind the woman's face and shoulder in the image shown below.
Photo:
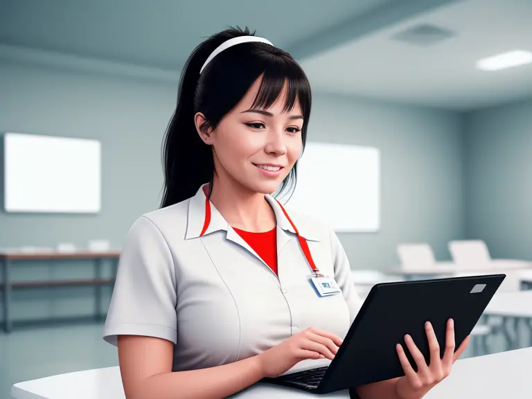
{"label": "blank whiteboard partly hidden behind the woman's face and shoulder", "polygon": [[285,206],[319,218],[335,231],[378,231],[380,151],[307,143],[298,162],[296,188]]}

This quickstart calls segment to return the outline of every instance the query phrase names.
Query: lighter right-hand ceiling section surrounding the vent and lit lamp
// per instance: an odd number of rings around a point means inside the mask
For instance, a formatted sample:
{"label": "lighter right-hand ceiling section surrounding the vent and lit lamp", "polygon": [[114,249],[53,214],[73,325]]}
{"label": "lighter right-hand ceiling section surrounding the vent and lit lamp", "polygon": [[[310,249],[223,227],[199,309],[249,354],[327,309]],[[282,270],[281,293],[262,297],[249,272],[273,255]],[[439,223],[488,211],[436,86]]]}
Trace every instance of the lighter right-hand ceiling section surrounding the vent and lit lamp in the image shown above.
{"label": "lighter right-hand ceiling section surrounding the vent and lit lamp", "polygon": [[[532,64],[497,72],[475,62],[532,51],[531,0],[463,0],[313,55],[302,65],[319,91],[468,111],[532,96]],[[418,24],[452,32],[431,46],[393,39]]]}

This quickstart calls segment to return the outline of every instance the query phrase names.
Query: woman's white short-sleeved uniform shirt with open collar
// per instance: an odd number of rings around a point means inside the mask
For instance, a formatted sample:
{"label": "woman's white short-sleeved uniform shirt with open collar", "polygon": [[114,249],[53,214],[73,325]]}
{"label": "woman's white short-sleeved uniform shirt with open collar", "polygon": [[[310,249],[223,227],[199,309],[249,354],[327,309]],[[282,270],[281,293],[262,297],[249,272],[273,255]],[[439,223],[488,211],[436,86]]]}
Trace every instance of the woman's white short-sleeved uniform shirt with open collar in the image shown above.
{"label": "woman's white short-sleeved uniform shirt with open collar", "polygon": [[361,303],[336,234],[288,215],[320,272],[342,290],[322,297],[290,220],[275,199],[266,199],[276,215],[278,276],[206,201],[203,188],[136,220],[118,263],[105,341],[168,339],[175,344],[172,371],[184,371],[257,355],[308,327],[343,339]]}

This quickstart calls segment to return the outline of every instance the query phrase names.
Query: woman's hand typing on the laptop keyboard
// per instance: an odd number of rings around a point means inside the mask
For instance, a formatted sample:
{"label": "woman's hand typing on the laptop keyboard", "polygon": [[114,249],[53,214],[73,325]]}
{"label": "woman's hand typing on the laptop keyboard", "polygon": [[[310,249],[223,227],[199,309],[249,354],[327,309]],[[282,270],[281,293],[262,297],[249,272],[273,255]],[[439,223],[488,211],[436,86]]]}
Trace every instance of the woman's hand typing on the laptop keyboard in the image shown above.
{"label": "woman's hand typing on the laptop keyboard", "polygon": [[342,339],[337,335],[317,328],[307,328],[260,353],[257,360],[264,376],[273,378],[292,369],[301,360],[332,360],[340,345]]}

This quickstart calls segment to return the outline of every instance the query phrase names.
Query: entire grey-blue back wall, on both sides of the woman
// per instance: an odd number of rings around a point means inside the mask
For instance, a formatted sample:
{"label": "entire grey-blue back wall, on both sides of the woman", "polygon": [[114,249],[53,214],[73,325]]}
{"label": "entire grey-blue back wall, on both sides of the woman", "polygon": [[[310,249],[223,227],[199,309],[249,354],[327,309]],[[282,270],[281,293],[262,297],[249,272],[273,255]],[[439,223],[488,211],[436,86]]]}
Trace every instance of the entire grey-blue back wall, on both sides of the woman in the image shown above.
{"label": "entire grey-blue back wall, on both sides of the woman", "polygon": [[[177,86],[107,78],[20,64],[0,64],[0,132],[99,139],[103,144],[103,210],[98,215],[0,213],[0,247],[122,244],[142,213],[159,206],[161,139]],[[340,234],[353,269],[398,264],[398,242],[426,241],[437,258],[463,236],[459,115],[314,94],[309,140],[374,145],[382,154],[382,229]],[[13,279],[80,278],[90,264],[31,265]],[[15,320],[91,314],[94,288],[19,291]],[[107,291],[109,294],[109,291]],[[107,305],[104,299],[104,308]]]}

